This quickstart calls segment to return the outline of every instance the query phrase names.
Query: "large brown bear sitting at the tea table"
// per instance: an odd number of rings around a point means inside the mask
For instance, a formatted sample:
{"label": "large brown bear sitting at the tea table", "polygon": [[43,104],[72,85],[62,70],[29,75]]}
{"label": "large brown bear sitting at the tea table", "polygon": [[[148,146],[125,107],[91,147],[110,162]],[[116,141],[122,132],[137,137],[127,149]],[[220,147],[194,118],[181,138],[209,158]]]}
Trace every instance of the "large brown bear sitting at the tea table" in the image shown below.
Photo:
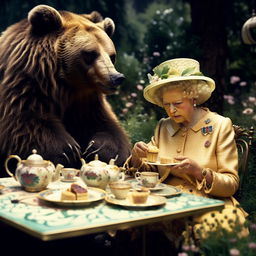
{"label": "large brown bear sitting at the tea table", "polygon": [[110,18],[38,5],[0,37],[0,157],[37,149],[54,164],[80,158],[122,165],[124,129],[106,100],[124,80],[114,67]]}

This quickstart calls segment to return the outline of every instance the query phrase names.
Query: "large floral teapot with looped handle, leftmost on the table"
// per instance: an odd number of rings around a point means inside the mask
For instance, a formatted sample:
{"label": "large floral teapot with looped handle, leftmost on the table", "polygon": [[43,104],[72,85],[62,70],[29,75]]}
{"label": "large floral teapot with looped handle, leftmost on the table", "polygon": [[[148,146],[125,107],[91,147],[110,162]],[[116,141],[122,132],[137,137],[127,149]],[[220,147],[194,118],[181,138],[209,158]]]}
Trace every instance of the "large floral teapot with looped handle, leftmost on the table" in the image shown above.
{"label": "large floral teapot with looped handle, leftmost on the table", "polygon": [[[58,164],[55,168],[51,161],[44,160],[35,149],[32,153],[27,160],[21,160],[18,155],[10,155],[5,161],[5,169],[26,191],[38,192],[46,189],[50,182],[58,180],[64,166]],[[18,160],[15,175],[8,168],[8,162],[12,158]]]}

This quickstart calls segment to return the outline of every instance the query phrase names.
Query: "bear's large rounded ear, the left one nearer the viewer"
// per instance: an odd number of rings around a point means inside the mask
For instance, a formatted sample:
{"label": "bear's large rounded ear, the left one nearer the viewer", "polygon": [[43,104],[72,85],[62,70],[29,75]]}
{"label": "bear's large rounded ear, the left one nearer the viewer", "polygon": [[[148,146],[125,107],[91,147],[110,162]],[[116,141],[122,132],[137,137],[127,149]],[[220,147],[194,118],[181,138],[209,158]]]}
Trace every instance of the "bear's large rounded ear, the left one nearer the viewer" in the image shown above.
{"label": "bear's large rounded ear, the left one nearer the viewer", "polygon": [[48,5],[37,5],[28,13],[33,32],[46,34],[62,27],[60,13]]}

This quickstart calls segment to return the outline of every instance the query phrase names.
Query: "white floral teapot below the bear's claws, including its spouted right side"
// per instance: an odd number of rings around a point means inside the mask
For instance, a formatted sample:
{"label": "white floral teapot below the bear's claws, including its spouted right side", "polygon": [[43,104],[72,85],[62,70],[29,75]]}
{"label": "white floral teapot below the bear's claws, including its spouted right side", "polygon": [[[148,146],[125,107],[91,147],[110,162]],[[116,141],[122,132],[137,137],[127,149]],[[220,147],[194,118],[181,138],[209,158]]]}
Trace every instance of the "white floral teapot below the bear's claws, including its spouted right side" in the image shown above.
{"label": "white floral teapot below the bear's claws, including its spouted right side", "polygon": [[114,165],[114,159],[109,164],[99,160],[98,154],[95,159],[88,164],[81,158],[82,167],[80,177],[85,184],[92,187],[106,189],[109,182],[124,180],[124,173],[120,172],[120,168]]}

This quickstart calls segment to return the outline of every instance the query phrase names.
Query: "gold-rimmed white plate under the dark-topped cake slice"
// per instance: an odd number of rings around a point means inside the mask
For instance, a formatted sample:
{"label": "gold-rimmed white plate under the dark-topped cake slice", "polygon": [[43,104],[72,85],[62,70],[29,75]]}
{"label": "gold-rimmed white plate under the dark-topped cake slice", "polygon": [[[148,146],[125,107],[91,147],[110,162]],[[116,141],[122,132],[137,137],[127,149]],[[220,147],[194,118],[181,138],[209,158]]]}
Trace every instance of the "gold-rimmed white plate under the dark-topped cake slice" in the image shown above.
{"label": "gold-rimmed white plate under the dark-topped cake slice", "polygon": [[61,200],[61,192],[64,189],[47,189],[38,194],[41,200],[60,206],[86,206],[104,199],[106,192],[99,188],[88,187],[88,199],[86,200]]}

